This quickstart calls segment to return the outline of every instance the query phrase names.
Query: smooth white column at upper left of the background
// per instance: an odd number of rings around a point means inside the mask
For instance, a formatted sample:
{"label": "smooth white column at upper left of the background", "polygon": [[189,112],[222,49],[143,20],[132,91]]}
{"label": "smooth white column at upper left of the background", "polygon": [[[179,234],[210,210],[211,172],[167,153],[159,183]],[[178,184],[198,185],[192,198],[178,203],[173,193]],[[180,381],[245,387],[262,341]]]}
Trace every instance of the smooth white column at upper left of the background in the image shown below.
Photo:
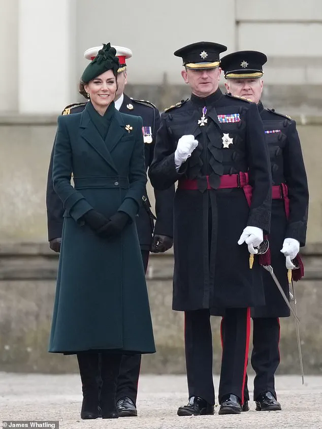
{"label": "smooth white column at upper left of the background", "polygon": [[75,9],[75,0],[19,0],[19,113],[59,113],[73,102]]}

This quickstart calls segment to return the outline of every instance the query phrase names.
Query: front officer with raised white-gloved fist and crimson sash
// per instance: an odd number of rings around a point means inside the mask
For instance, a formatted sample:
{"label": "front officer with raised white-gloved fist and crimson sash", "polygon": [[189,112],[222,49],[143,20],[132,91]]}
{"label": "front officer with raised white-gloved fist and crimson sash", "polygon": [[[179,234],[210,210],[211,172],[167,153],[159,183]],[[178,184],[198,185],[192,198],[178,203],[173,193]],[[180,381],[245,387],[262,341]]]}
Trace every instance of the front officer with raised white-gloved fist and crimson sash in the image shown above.
{"label": "front officer with raised white-gloved fist and crimson sash", "polygon": [[162,115],[149,170],[157,189],[178,181],[173,309],[185,312],[189,393],[178,415],[213,414],[214,306],[225,309],[219,414],[241,412],[249,308],[265,304],[261,268],[255,261],[249,269],[249,252],[270,227],[268,150],[256,105],[218,88],[219,53],[226,49],[199,42],[174,53],[192,94]]}

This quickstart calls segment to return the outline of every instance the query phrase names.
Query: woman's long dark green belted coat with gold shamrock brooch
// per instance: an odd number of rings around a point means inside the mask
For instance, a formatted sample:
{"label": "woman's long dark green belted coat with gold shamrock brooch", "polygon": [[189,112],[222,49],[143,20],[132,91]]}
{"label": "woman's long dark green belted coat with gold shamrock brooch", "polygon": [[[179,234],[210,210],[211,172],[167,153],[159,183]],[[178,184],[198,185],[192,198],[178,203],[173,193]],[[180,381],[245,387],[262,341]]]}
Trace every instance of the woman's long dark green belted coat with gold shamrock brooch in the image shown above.
{"label": "woman's long dark green belted coat with gold shamrock brooch", "polygon": [[[65,214],[50,352],[155,352],[134,222],[146,180],[140,117],[115,110],[105,141],[87,107],[58,118],[53,184]],[[92,208],[132,222],[116,238],[98,237],[82,221]]]}

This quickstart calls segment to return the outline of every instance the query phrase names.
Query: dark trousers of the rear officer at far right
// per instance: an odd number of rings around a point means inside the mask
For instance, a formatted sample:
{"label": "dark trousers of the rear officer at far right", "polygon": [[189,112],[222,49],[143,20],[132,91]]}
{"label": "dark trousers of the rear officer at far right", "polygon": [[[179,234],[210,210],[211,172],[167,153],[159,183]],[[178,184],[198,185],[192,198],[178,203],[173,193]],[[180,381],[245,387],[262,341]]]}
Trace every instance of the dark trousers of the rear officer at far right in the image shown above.
{"label": "dark trousers of the rear officer at far right", "polygon": [[[277,398],[274,374],[280,362],[279,335],[278,317],[253,319],[251,366],[256,373],[254,378],[254,401],[259,394],[267,391]],[[244,394],[248,395],[247,379]]]}

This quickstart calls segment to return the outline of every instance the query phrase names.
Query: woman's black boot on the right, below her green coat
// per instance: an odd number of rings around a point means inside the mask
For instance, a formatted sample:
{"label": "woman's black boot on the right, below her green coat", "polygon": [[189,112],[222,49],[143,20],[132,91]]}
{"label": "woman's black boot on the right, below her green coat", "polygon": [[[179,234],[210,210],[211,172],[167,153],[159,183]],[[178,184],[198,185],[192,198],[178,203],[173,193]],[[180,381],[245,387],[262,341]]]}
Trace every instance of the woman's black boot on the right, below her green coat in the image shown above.
{"label": "woman's black boot on the right, below her green coat", "polygon": [[102,353],[102,388],[100,397],[102,418],[118,418],[116,387],[121,357],[122,355],[118,353]]}

